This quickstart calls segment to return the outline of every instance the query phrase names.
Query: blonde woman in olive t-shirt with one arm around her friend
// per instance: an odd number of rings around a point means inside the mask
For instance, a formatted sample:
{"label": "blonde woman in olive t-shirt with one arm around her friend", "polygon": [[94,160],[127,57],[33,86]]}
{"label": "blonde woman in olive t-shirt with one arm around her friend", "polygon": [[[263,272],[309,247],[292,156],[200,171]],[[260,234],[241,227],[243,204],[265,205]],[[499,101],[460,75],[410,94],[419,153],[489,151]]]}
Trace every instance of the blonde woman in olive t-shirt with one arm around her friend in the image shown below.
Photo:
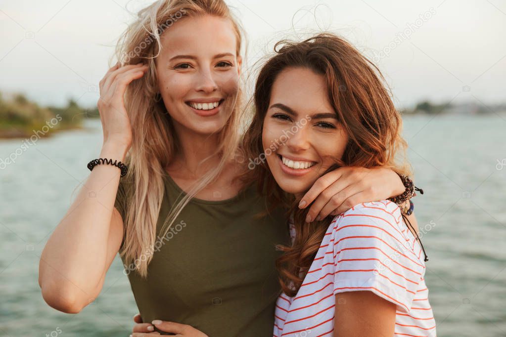
{"label": "blonde woman in olive t-shirt with one arm around her friend", "polygon": [[[289,237],[286,210],[237,179],[251,171],[237,155],[241,45],[220,0],[158,1],[126,29],[98,106],[100,158],[128,173],[95,166],[49,238],[39,284],[50,306],[86,307],[119,252],[144,322],[181,323],[184,335],[272,332],[275,244]],[[403,191],[388,168],[340,168],[301,207],[312,221]]]}

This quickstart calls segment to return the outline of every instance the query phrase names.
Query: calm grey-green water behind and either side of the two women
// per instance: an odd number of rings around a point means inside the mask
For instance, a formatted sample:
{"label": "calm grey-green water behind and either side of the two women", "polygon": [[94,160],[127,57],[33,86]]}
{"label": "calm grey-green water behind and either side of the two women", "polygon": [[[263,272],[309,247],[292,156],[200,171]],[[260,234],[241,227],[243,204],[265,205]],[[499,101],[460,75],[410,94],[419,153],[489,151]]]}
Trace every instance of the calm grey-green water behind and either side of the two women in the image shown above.
{"label": "calm grey-green water behind and either side of the two women", "polygon": [[[87,125],[26,151],[20,140],[0,141],[2,160],[19,148],[15,163],[0,161],[0,335],[130,334],[137,307],[118,257],[99,298],[77,315],[47,306],[37,282],[49,234],[100,153],[100,121]],[[425,190],[415,213],[438,336],[506,336],[506,114],[405,117],[404,130]]]}

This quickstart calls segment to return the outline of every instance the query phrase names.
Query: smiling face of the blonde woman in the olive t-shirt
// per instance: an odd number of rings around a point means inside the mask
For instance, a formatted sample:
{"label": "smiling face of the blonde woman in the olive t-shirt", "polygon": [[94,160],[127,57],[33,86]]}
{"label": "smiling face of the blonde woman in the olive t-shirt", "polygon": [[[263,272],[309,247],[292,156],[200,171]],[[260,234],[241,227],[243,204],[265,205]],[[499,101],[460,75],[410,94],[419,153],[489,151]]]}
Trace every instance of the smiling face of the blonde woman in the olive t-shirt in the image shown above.
{"label": "smiling face of the blonde woman in the olive t-shirt", "polygon": [[168,28],[156,58],[158,88],[179,131],[209,134],[236,103],[241,59],[228,19],[186,17]]}

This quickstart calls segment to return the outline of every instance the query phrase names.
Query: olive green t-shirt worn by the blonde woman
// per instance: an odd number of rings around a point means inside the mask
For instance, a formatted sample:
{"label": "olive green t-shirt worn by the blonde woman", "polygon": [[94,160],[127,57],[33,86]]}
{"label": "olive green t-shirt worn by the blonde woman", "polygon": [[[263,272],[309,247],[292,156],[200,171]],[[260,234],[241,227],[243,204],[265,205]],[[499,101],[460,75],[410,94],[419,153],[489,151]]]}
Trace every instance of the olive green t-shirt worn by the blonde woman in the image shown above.
{"label": "olive green t-shirt worn by the blonde woman", "polygon": [[[147,278],[122,258],[143,321],[189,324],[210,337],[271,336],[280,293],[275,260],[281,252],[275,245],[289,243],[284,212],[256,218],[265,213],[266,201],[250,186],[223,201],[191,200],[161,236],[168,211],[185,195],[170,175],[163,181]],[[123,219],[129,186],[120,180],[116,196]]]}

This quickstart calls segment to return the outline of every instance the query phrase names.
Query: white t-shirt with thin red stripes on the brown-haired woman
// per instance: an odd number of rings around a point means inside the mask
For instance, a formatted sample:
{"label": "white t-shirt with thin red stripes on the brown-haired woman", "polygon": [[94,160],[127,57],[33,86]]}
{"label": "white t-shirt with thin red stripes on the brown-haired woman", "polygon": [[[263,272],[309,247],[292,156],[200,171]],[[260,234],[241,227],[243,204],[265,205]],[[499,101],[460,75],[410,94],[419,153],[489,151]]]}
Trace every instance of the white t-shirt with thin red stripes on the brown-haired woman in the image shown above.
{"label": "white t-shirt with thin red stripes on the brown-haired woman", "polygon": [[[292,227],[293,230],[293,227]],[[371,291],[397,305],[395,336],[436,336],[421,247],[387,200],[336,216],[302,286],[276,302],[274,336],[331,336],[335,295]]]}

